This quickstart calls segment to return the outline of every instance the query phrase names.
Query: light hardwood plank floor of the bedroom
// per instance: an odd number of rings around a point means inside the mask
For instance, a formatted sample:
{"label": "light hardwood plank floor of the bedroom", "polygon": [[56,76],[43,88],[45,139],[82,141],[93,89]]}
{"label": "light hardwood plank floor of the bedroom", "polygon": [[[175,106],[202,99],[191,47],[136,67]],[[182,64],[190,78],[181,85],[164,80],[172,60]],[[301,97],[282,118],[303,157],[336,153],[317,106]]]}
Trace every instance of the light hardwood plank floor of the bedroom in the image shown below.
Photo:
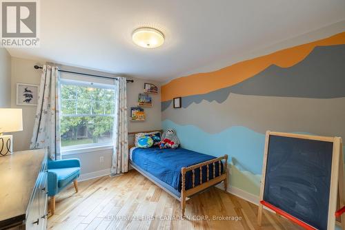
{"label": "light hardwood plank floor of the bedroom", "polygon": [[73,185],[62,191],[56,196],[48,228],[302,229],[269,211],[264,211],[259,227],[256,205],[215,187],[187,201],[186,220],[180,215],[179,201],[132,170],[123,176],[79,182],[77,194]]}

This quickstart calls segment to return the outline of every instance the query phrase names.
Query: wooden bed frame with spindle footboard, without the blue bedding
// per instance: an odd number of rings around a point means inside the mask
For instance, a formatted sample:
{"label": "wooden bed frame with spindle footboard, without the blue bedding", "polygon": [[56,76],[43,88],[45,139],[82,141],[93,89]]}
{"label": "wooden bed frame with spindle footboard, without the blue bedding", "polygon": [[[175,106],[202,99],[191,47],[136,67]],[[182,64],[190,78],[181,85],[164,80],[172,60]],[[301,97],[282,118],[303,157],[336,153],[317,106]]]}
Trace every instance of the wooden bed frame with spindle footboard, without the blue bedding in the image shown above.
{"label": "wooden bed frame with spindle footboard, without the blue bedding", "polygon": [[[149,133],[149,132],[160,132],[162,133],[162,130],[150,130],[150,131],[142,131],[144,133]],[[142,133],[142,132],[128,132],[128,136],[129,135],[135,135],[138,133]],[[129,145],[128,149],[130,149],[131,147],[134,147],[134,145]],[[219,176],[216,176],[216,171],[215,171],[215,163],[221,163],[221,160],[224,160],[224,167],[223,167],[223,173],[221,174],[221,167],[219,167]],[[210,164],[213,164],[213,178],[210,179],[208,178],[209,175],[209,166]],[[206,166],[206,171],[207,171],[207,181],[206,182],[202,182],[201,178],[202,178],[202,170],[201,168]],[[141,174],[143,174],[145,177],[147,177],[149,180],[151,180],[152,182],[155,183],[155,185],[157,185],[158,187],[160,187],[161,189],[163,189],[164,191],[167,191],[168,194],[172,195],[174,198],[176,198],[177,200],[179,200],[181,202],[181,211],[182,211],[182,216],[184,216],[185,210],[186,210],[186,200],[189,199],[190,196],[199,193],[200,191],[204,191],[205,189],[212,187],[213,185],[217,185],[219,182],[224,182],[224,191],[226,192],[228,189],[228,155],[224,155],[221,156],[219,158],[215,158],[212,160],[207,160],[204,161],[203,163],[199,163],[197,165],[191,165],[189,167],[182,167],[181,168],[181,197],[175,196],[174,194],[172,194],[170,191],[168,191],[168,189],[162,187],[161,185],[159,185],[159,183],[155,182],[155,180],[152,180],[151,178],[149,178],[148,176],[146,176],[144,174],[143,171],[141,171],[140,169],[137,169],[137,167],[134,167],[132,165],[133,168],[135,168],[137,171],[139,171]],[[200,169],[200,185],[195,185],[195,169]],[[192,171],[192,188],[190,189],[186,189],[186,173],[188,171]]]}

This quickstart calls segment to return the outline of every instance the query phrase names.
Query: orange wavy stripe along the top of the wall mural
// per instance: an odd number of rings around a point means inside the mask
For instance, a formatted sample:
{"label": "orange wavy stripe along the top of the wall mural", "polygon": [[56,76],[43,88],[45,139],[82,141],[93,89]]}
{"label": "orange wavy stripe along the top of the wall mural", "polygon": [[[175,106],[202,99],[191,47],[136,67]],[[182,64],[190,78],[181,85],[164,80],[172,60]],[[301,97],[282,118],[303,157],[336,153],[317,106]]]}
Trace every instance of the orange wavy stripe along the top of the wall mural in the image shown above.
{"label": "orange wavy stripe along the top of the wall mural", "polygon": [[161,86],[161,101],[168,101],[178,96],[206,94],[229,87],[255,76],[255,74],[262,72],[270,65],[278,65],[279,67],[293,66],[305,59],[316,46],[340,44],[345,44],[345,32],[319,41],[297,45],[293,48],[235,63],[214,72],[183,76]]}

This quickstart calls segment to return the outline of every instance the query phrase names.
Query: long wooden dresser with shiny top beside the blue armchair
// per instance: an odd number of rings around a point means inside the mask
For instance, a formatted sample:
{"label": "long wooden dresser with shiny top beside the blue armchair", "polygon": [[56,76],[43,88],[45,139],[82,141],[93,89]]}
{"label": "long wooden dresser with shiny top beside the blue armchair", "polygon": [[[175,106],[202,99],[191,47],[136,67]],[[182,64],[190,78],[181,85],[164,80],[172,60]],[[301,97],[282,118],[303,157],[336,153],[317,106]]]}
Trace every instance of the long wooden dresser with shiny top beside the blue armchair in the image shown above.
{"label": "long wooden dresser with shiny top beside the blue armchair", "polygon": [[47,228],[47,174],[44,149],[0,158],[0,229]]}

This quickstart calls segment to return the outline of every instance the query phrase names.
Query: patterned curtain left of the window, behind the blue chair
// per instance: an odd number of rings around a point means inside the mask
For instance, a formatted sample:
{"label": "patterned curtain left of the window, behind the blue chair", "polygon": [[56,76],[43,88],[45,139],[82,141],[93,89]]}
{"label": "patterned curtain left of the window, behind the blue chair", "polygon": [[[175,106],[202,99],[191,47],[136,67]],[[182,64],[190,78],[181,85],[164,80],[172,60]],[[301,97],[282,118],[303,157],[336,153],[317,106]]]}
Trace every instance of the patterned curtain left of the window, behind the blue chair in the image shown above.
{"label": "patterned curtain left of the window, behind the blue chair", "polygon": [[46,148],[52,160],[61,159],[59,96],[58,67],[43,65],[30,149]]}

